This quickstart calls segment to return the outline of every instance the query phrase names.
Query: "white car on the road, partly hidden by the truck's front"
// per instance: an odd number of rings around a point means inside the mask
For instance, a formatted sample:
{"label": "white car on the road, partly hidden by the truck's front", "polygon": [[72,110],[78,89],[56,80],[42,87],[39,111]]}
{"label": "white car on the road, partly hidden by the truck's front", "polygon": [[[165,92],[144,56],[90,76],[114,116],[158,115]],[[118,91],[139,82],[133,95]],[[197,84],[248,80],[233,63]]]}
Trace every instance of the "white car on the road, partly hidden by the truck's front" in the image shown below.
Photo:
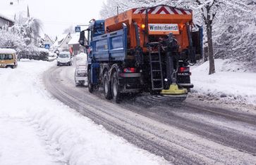
{"label": "white car on the road, partly hidden by the truck's front", "polygon": [[87,86],[87,65],[80,64],[75,67],[75,86]]}

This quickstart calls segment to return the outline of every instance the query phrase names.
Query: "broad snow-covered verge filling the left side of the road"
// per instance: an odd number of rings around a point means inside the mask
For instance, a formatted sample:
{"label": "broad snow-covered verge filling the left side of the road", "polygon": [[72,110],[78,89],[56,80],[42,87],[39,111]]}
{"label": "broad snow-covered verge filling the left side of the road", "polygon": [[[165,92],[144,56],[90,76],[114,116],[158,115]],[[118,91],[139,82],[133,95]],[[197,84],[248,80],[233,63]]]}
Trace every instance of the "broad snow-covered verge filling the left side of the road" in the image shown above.
{"label": "broad snow-covered verge filling the left side of the road", "polygon": [[56,62],[0,69],[0,164],[167,164],[114,136],[45,91]]}

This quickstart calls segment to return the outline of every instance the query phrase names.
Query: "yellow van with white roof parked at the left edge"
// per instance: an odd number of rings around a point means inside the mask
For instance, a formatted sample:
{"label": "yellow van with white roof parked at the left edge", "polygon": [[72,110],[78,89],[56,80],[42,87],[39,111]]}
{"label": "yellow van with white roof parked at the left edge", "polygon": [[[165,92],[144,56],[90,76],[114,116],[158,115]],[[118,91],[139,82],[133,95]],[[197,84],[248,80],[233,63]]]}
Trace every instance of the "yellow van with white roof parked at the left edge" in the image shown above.
{"label": "yellow van with white roof parked at the left edge", "polygon": [[0,48],[0,67],[17,67],[16,51],[11,48]]}

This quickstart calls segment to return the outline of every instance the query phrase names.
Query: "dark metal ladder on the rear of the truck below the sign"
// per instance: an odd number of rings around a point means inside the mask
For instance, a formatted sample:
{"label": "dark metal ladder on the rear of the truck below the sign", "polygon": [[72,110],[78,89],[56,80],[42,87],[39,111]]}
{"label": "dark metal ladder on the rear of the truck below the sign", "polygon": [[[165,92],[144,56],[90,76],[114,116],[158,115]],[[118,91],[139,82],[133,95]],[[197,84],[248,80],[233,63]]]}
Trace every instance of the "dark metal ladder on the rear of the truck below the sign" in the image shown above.
{"label": "dark metal ladder on the rear of the truck below the sign", "polygon": [[159,91],[164,89],[161,53],[158,46],[157,48],[154,47],[154,49],[150,47],[148,50],[150,51],[150,74],[152,91]]}

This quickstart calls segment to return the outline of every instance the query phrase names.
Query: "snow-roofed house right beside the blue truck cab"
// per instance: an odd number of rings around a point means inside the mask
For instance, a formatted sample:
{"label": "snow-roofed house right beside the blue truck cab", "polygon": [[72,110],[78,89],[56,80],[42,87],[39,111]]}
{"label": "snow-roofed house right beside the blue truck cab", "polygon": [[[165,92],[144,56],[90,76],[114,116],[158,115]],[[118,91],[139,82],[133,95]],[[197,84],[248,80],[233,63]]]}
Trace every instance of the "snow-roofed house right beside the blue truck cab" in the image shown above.
{"label": "snow-roofed house right beside the blue truck cab", "polygon": [[68,42],[69,51],[73,55],[78,55],[80,52],[84,52],[83,46],[79,44],[79,34],[73,34],[71,41]]}

